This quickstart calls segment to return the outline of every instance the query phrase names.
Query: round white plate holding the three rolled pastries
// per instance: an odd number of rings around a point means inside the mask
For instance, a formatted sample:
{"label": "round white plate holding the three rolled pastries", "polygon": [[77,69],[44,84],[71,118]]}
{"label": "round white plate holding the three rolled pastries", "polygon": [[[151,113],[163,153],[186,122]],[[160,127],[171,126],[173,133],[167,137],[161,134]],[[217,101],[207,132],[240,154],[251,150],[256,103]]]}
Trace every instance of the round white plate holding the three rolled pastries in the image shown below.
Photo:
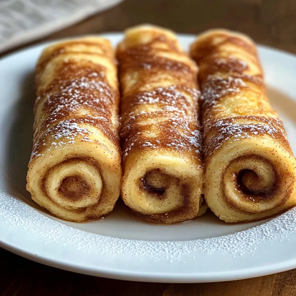
{"label": "round white plate holding the three rolled pastries", "polygon": [[[106,34],[116,44],[122,34]],[[184,48],[193,36],[179,35]],[[34,66],[45,44],[0,60],[1,246],[50,266],[115,279],[226,281],[296,267],[296,210],[270,221],[226,224],[213,214],[154,225],[123,205],[103,221],[72,223],[30,202],[25,176],[32,146]],[[268,96],[296,152],[296,58],[259,46]]]}

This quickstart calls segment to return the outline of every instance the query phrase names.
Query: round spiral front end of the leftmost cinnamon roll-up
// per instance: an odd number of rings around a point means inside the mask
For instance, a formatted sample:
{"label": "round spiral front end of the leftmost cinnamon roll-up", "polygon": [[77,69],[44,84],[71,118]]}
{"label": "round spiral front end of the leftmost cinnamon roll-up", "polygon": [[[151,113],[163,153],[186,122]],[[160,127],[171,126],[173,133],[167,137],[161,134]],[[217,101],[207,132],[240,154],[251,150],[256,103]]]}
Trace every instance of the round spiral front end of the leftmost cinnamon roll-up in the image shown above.
{"label": "round spiral front end of the leftmost cinnamon roll-up", "polygon": [[83,141],[60,148],[45,150],[30,162],[27,190],[32,199],[70,221],[99,219],[109,213],[119,196],[117,153]]}

